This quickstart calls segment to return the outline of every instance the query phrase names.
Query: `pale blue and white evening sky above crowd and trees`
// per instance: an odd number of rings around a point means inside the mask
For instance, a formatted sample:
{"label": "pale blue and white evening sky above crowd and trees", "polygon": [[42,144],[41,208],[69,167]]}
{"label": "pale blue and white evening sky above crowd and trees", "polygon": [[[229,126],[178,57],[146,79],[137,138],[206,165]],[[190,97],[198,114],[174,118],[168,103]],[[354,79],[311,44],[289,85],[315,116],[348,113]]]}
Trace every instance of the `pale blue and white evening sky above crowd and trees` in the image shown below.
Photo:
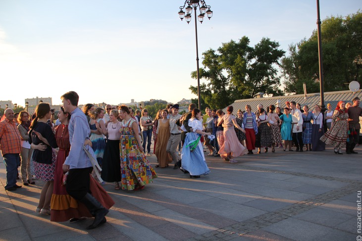
{"label": "pale blue and white evening sky above crowd and trees", "polygon": [[[0,0],[0,100],[75,91],[79,104],[197,98],[194,15],[184,0]],[[285,51],[316,29],[315,0],[206,0],[213,16],[198,22],[202,53],[243,36]],[[320,18],[356,13],[361,0],[320,0]],[[323,37],[323,36],[322,36]],[[288,52],[287,52],[288,53]]]}

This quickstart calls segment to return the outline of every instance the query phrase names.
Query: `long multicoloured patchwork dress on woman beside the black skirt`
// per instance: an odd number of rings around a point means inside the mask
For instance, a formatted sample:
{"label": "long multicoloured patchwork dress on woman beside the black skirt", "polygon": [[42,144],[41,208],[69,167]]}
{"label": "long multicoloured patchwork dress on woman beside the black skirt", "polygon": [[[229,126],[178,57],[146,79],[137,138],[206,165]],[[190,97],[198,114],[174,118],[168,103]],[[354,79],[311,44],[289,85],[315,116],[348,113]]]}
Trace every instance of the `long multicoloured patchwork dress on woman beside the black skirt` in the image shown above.
{"label": "long multicoloured patchwork dress on woman beside the black skirt", "polygon": [[121,187],[122,190],[134,190],[152,183],[157,177],[146,155],[137,143],[132,129],[134,119],[123,120],[119,132],[120,159],[121,159]]}

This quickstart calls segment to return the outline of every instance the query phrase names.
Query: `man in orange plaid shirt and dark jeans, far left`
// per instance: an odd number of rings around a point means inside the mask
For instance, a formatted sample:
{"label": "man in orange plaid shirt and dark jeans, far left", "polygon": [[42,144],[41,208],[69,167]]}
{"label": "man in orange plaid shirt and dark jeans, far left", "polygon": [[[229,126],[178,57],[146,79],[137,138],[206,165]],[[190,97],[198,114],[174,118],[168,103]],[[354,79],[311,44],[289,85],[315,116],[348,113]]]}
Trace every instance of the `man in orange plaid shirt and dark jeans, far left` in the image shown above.
{"label": "man in orange plaid shirt and dark jeans, far left", "polygon": [[1,154],[6,166],[5,190],[15,191],[21,186],[16,185],[17,167],[20,166],[21,137],[14,121],[14,111],[5,110],[5,119],[0,122]]}

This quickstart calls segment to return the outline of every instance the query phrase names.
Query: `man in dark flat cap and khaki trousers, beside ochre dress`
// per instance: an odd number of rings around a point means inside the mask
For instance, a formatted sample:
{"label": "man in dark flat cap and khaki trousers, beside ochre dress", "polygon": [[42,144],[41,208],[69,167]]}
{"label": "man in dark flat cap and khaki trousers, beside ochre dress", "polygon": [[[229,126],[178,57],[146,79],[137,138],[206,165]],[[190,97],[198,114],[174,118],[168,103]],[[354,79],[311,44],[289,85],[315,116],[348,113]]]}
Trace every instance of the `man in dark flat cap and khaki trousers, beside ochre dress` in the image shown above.
{"label": "man in dark flat cap and khaki trousers, beside ochre dress", "polygon": [[174,104],[171,106],[171,115],[169,116],[170,120],[170,138],[168,139],[166,151],[171,154],[173,163],[175,164],[173,169],[178,169],[178,155],[177,155],[177,146],[181,142],[181,129],[176,124],[176,121],[178,121],[181,117],[181,115],[178,113],[179,109],[178,104]]}

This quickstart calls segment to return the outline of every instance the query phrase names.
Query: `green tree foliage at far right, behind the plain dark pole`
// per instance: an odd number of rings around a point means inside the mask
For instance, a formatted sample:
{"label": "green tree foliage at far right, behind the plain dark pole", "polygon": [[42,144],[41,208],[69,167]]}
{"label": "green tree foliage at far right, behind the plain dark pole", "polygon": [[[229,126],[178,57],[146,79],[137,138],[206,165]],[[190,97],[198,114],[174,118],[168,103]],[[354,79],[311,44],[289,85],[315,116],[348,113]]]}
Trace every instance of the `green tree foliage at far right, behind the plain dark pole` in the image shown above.
{"label": "green tree foliage at far right, behind the plain dark pole", "polygon": [[[346,90],[344,83],[362,82],[362,13],[347,17],[331,16],[322,21],[324,91]],[[281,61],[287,93],[319,92],[317,31],[298,44],[289,46],[289,55]]]}

